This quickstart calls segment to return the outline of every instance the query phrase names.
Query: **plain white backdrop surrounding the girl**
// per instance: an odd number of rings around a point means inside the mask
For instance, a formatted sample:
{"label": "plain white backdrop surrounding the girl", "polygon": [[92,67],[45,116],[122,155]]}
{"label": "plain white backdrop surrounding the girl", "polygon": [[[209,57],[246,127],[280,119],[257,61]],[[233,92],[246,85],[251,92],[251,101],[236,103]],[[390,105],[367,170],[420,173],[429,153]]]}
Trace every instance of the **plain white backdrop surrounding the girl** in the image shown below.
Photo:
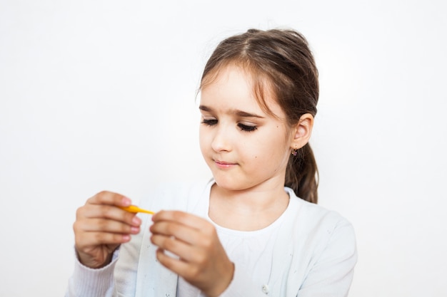
{"label": "plain white backdrop surrounding the girl", "polygon": [[63,296],[76,208],[209,177],[196,88],[216,43],[301,31],[320,204],[356,229],[350,297],[447,296],[444,1],[0,0],[0,296]]}

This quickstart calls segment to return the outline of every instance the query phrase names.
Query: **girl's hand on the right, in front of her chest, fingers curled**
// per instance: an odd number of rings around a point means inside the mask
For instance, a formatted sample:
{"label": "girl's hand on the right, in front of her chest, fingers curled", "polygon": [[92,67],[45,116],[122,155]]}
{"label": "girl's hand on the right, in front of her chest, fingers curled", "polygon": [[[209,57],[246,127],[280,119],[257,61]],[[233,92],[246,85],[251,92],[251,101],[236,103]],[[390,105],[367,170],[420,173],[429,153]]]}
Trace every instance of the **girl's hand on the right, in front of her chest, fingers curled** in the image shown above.
{"label": "girl's hand on the right, in front of her chest, fingers curled", "polygon": [[233,278],[234,266],[210,222],[179,211],[158,212],[152,221],[151,242],[159,246],[156,256],[162,265],[206,296],[219,296],[225,291]]}

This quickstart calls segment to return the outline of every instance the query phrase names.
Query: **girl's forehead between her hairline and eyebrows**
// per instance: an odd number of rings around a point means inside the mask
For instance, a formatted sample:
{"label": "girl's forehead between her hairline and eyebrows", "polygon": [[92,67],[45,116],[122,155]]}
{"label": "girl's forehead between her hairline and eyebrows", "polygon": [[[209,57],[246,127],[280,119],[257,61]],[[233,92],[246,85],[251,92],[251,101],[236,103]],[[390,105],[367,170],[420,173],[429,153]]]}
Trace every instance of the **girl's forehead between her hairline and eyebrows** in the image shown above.
{"label": "girl's forehead between her hairline and eyebrows", "polygon": [[253,74],[245,68],[235,65],[224,66],[211,78],[206,78],[206,84],[201,89],[201,105],[216,106],[216,108],[232,108],[267,115],[268,110],[277,118],[284,118],[273,93],[267,83],[263,83],[263,100],[266,108],[259,104],[255,92]]}

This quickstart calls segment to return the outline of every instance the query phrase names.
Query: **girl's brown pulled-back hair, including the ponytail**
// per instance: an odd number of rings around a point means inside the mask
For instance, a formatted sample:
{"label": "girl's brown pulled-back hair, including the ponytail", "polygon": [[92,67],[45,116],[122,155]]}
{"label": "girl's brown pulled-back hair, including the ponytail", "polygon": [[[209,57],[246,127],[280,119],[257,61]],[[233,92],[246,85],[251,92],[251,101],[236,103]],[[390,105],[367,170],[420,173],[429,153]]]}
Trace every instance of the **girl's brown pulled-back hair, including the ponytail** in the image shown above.
{"label": "girl's brown pulled-back hair, including the ponytail", "polygon": [[[272,114],[264,99],[270,90],[286,113],[290,127],[305,113],[316,115],[318,71],[301,33],[250,29],[226,38],[206,63],[200,88],[211,83],[219,69],[231,63],[251,74],[256,100],[267,113]],[[318,169],[309,144],[298,150],[296,157],[289,158],[284,185],[291,187],[298,197],[317,203]]]}

